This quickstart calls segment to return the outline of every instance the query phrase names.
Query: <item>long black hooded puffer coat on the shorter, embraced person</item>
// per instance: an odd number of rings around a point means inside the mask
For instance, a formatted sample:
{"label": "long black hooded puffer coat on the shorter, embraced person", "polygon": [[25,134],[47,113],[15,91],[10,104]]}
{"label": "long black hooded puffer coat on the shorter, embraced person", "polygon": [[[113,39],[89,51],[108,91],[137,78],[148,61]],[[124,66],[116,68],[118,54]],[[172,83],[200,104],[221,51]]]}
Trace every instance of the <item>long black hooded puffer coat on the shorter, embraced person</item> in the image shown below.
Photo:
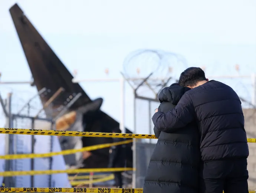
{"label": "long black hooded puffer coat on the shorter, embraced person", "polygon": [[[187,87],[172,85],[158,95],[159,111],[173,109]],[[198,193],[200,161],[199,132],[196,123],[174,133],[158,133],[155,150],[145,177],[143,193]],[[159,136],[160,134],[160,136]]]}

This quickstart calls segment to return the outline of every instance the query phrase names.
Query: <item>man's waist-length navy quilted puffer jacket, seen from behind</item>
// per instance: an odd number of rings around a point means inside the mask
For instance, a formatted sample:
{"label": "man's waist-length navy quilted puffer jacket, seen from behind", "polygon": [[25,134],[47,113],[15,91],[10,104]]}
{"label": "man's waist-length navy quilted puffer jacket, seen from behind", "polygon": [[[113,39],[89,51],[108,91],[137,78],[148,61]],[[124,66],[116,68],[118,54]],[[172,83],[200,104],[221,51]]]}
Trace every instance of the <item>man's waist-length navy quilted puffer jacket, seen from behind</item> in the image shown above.
{"label": "man's waist-length navy quilted puffer jacket, seen from behind", "polygon": [[152,120],[158,130],[167,133],[196,120],[204,162],[249,156],[240,99],[219,81],[211,80],[187,91],[173,110],[157,112]]}

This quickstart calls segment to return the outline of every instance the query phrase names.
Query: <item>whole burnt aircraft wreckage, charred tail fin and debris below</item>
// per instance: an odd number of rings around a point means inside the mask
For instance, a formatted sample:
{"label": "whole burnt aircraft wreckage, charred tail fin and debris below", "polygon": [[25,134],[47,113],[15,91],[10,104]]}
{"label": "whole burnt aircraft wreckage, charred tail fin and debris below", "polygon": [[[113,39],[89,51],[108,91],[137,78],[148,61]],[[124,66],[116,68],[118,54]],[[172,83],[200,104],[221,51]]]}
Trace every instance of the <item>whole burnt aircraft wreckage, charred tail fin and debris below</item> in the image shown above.
{"label": "whole burnt aircraft wreckage, charred tail fin and debris below", "polygon": [[[57,117],[56,129],[87,132],[112,132],[114,130],[120,132],[119,123],[100,110],[103,99],[90,99],[78,83],[72,82],[72,74],[66,69],[17,4],[10,8],[10,14],[33,76],[32,85],[36,86],[38,91],[47,88],[53,93],[59,88],[64,89],[63,93],[52,102],[52,113],[46,113],[47,116],[54,119],[59,113],[57,109],[63,105],[68,97],[81,93],[81,96],[69,107],[68,111],[61,117]],[[43,105],[49,99],[49,94],[40,96]],[[47,109],[45,111],[47,112]],[[131,132],[126,129],[126,133]],[[59,139],[62,149],[74,149],[112,142],[111,138],[102,137],[61,136]],[[132,167],[131,144],[127,145],[126,150],[127,167]],[[73,155],[73,157],[67,155],[65,161],[70,165],[78,165],[81,162],[82,167],[86,168],[107,167],[108,157],[109,148],[105,148],[83,152],[82,156],[78,158],[76,155]]]}

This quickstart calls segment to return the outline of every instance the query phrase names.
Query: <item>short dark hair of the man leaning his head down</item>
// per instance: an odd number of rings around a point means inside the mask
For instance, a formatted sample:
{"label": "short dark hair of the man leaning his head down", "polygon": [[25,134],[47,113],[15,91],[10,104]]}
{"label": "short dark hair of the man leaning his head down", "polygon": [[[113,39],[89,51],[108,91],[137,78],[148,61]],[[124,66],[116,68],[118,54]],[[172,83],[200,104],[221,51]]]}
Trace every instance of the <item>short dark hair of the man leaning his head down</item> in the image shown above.
{"label": "short dark hair of the man leaning his head down", "polygon": [[180,74],[180,86],[196,86],[199,81],[206,80],[204,71],[198,67],[189,67]]}

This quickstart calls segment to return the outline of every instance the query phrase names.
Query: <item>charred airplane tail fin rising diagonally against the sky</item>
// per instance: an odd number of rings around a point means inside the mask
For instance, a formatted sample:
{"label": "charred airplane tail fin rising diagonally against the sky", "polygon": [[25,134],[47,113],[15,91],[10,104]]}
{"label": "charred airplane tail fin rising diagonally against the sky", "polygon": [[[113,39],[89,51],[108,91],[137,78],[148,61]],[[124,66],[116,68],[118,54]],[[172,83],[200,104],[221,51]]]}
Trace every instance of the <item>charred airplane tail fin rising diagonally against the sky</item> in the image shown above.
{"label": "charred airplane tail fin rising diagonally against the sky", "polygon": [[[72,74],[66,69],[17,4],[10,8],[10,14],[37,90],[46,88],[55,93],[60,87],[65,89],[66,94],[59,96],[58,100],[52,103],[53,107],[63,104],[69,97],[68,95],[73,93],[82,93],[82,96],[72,105],[72,109],[90,103],[91,99],[78,83],[72,82]],[[41,98],[42,103],[46,103],[50,97],[50,95],[47,95]]]}

